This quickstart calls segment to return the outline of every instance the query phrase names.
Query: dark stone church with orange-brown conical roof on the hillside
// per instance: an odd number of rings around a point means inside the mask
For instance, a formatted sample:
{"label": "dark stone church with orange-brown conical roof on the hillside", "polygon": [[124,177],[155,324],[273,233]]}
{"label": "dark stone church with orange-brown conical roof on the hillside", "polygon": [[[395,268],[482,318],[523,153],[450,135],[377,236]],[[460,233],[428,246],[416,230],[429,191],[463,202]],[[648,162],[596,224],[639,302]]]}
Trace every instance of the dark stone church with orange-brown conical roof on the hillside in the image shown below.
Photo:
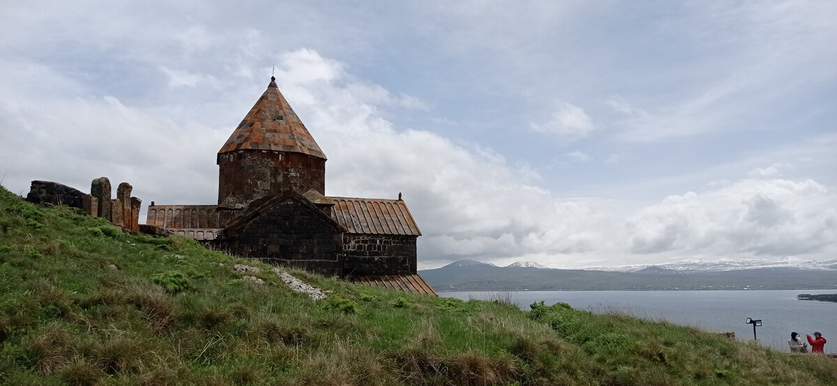
{"label": "dark stone church with orange-brown conical roof on the hillside", "polygon": [[218,150],[218,205],[148,206],[146,224],[275,265],[436,294],[416,272],[421,236],[398,199],[323,196],[326,155],[275,78]]}

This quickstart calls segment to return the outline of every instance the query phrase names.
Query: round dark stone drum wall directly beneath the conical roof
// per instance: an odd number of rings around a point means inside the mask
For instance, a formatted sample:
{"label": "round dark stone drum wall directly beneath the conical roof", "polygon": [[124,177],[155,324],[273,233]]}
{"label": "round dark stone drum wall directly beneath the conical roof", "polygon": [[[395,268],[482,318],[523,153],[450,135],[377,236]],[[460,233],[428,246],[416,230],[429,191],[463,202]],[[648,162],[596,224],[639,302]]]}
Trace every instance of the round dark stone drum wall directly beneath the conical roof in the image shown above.
{"label": "round dark stone drum wall directly beneath the conical roof", "polygon": [[282,191],[326,191],[326,160],[299,153],[236,150],[218,155],[218,206],[241,209]]}

